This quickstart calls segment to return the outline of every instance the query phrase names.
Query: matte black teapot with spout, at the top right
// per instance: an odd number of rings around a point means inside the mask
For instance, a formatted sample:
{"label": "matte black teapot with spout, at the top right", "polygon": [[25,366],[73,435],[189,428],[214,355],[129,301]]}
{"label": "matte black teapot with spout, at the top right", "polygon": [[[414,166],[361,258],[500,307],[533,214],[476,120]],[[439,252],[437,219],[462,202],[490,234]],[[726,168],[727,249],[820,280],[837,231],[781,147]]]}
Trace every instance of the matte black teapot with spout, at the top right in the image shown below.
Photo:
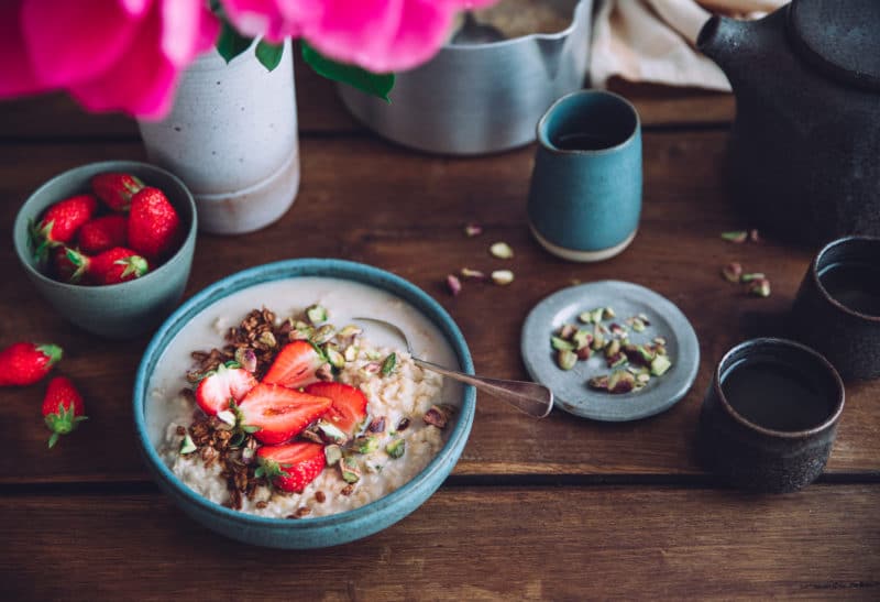
{"label": "matte black teapot with spout, at the top right", "polygon": [[697,46],[736,95],[729,177],[750,222],[811,243],[880,236],[880,2],[713,17]]}

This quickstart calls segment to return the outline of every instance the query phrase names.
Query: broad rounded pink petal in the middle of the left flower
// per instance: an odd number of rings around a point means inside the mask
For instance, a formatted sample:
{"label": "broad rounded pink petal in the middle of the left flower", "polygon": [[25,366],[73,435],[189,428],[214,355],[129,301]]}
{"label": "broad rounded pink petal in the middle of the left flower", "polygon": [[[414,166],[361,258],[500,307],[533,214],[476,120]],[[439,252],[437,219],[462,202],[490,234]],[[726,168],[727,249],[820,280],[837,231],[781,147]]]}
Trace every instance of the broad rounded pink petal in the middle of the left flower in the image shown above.
{"label": "broad rounded pink petal in the middle of the left flower", "polygon": [[89,79],[117,62],[141,19],[116,0],[25,0],[22,28],[36,76],[65,86]]}

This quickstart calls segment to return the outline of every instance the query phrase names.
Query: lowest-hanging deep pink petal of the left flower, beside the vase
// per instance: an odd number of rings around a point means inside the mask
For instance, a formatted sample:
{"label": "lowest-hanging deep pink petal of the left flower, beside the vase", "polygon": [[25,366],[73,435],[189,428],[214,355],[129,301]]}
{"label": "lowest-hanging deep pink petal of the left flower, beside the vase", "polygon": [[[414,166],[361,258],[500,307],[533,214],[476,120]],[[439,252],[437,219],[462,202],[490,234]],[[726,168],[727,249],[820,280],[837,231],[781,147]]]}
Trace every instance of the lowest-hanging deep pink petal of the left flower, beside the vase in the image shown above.
{"label": "lowest-hanging deep pink petal of the left flower, beside the vase", "polygon": [[138,32],[138,43],[96,78],[70,87],[70,95],[87,110],[122,110],[136,117],[160,119],[170,110],[179,68],[161,51],[160,11],[151,11]]}

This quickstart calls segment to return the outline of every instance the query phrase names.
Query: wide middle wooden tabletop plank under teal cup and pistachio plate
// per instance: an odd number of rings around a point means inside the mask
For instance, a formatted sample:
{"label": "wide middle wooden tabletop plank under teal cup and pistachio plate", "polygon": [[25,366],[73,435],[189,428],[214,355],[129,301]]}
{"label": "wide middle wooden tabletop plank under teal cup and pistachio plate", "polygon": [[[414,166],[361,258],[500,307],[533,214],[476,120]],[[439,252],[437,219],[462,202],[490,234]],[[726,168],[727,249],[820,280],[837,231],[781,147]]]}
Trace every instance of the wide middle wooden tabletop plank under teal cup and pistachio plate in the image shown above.
{"label": "wide middle wooden tabletop plank under teal cup and pistachio plate", "polygon": [[[735,245],[718,233],[747,226],[721,179],[723,132],[648,133],[645,209],[632,247],[592,265],[551,258],[531,240],[525,199],[530,149],[474,160],[435,158],[372,139],[306,140],[302,186],[294,208],[276,225],[237,238],[200,236],[187,295],[244,267],[297,256],[366,262],[413,281],[435,296],[461,326],[479,373],[524,379],[520,326],[546,295],[573,281],[617,278],[651,287],[676,303],[701,339],[702,366],[688,396],[645,420],[602,424],[559,411],[544,420],[525,417],[481,395],[476,420],[455,473],[676,475],[701,474],[693,453],[700,404],[711,371],[736,342],[783,330],[784,316],[811,251],[768,241]],[[7,144],[0,146],[0,222],[11,225],[18,204],[42,180],[98,158],[142,156],[135,143]],[[26,157],[23,158],[23,157]],[[468,239],[463,225],[485,227]],[[491,258],[505,240],[516,258]],[[746,297],[718,270],[738,260],[768,272],[769,299]],[[0,261],[14,265],[10,244]],[[447,273],[468,265],[509,266],[508,287],[466,284],[458,297],[443,288]],[[55,340],[68,350],[63,372],[79,382],[91,420],[47,455],[38,418],[41,387],[4,390],[8,419],[0,437],[14,455],[0,458],[0,482],[143,479],[132,445],[130,390],[147,338],[111,343],[87,336],[53,314],[11,267],[0,293],[0,343]],[[828,471],[880,472],[880,383],[849,385],[847,407]],[[47,461],[51,458],[51,461]]]}

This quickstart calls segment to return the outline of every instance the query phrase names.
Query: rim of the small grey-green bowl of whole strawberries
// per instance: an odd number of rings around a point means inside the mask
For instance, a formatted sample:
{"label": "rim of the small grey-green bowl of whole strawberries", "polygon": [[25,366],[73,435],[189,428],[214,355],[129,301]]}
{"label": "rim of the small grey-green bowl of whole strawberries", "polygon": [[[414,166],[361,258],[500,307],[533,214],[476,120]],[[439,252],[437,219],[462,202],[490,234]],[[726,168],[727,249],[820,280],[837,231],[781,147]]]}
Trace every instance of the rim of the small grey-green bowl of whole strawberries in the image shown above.
{"label": "rim of the small grey-green bowl of whole strawberries", "polygon": [[[189,220],[189,228],[187,229],[183,240],[179,242],[179,244],[177,247],[177,250],[174,252],[174,254],[172,256],[169,256],[167,260],[165,260],[158,267],[153,269],[151,266],[150,272],[147,272],[146,274],[144,274],[143,276],[141,276],[139,278],[134,278],[134,280],[131,280],[131,281],[121,282],[121,283],[117,283],[117,284],[101,285],[101,286],[85,286],[82,284],[73,284],[73,283],[62,282],[62,281],[56,281],[54,278],[51,278],[47,275],[45,275],[44,273],[42,273],[40,270],[34,267],[33,265],[31,265],[30,261],[28,261],[25,258],[23,258],[21,252],[19,251],[18,237],[19,237],[19,231],[20,231],[21,228],[25,229],[25,233],[22,234],[22,236],[24,236],[25,238],[28,237],[28,233],[26,233],[28,216],[25,216],[25,207],[28,207],[28,205],[36,196],[43,194],[46,188],[50,188],[51,186],[55,185],[57,182],[59,182],[62,179],[69,178],[69,177],[75,177],[75,176],[79,175],[79,173],[81,173],[81,172],[91,172],[91,171],[94,171],[94,169],[96,169],[96,168],[98,168],[100,166],[105,166],[105,165],[107,166],[107,171],[124,172],[124,171],[131,171],[131,168],[133,167],[134,169],[139,169],[139,171],[140,169],[144,169],[144,171],[156,172],[156,173],[162,174],[164,177],[167,177],[168,179],[170,179],[172,183],[174,183],[174,185],[179,188],[179,191],[182,193],[180,196],[185,199],[186,205],[189,207],[189,214],[191,216],[191,219]],[[163,190],[163,193],[165,193],[165,190]],[[167,196],[167,194],[166,194],[166,196]],[[61,200],[64,200],[64,199],[61,199]],[[59,174],[56,174],[55,176],[51,177],[50,179],[47,179],[43,184],[41,184],[30,195],[28,195],[28,198],[24,200],[24,203],[22,203],[21,207],[19,207],[19,210],[15,214],[15,219],[13,221],[13,230],[12,230],[12,247],[13,247],[13,250],[15,252],[15,256],[18,258],[19,263],[23,266],[23,269],[31,276],[37,278],[38,281],[41,281],[43,283],[46,283],[46,284],[52,285],[52,286],[57,286],[57,287],[59,287],[62,289],[68,289],[68,291],[69,289],[75,289],[75,291],[84,291],[85,289],[85,291],[90,291],[90,292],[92,292],[92,291],[114,291],[114,289],[119,289],[119,288],[124,287],[124,286],[139,285],[138,283],[142,283],[142,282],[153,282],[153,281],[156,280],[156,278],[152,277],[154,274],[161,274],[161,273],[164,272],[163,271],[164,267],[166,267],[166,266],[168,266],[168,265],[170,265],[173,263],[178,263],[180,261],[184,261],[184,260],[182,260],[182,258],[184,258],[184,255],[185,255],[185,249],[187,247],[187,243],[190,242],[190,241],[195,241],[196,236],[197,236],[197,231],[198,231],[198,211],[196,210],[196,199],[193,197],[193,193],[189,190],[189,188],[187,188],[186,184],[184,184],[184,182],[179,177],[177,177],[173,173],[168,172],[167,169],[164,169],[164,168],[160,167],[158,165],[154,165],[152,163],[146,163],[146,162],[143,162],[143,161],[134,161],[134,160],[92,161],[90,163],[84,163],[82,165],[78,165],[76,167],[70,167],[69,169],[65,169],[64,172],[61,172]],[[25,240],[25,244],[26,244],[26,240]],[[143,285],[139,285],[139,286],[143,286]]]}

